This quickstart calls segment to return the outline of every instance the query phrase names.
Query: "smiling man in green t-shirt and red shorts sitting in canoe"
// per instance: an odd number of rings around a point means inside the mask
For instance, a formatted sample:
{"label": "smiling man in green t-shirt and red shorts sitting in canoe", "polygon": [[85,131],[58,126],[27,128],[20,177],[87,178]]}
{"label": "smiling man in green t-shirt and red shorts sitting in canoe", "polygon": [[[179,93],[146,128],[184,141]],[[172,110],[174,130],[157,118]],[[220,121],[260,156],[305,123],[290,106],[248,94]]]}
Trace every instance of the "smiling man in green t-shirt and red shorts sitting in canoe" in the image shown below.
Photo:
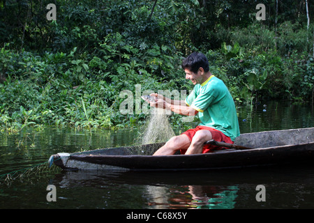
{"label": "smiling man in green t-shirt and red shorts sitting in canoe", "polygon": [[186,100],[171,100],[151,94],[156,97],[156,102],[150,102],[150,105],[182,115],[198,114],[201,123],[195,129],[172,137],[154,155],[173,155],[179,150],[186,155],[208,153],[216,149],[215,146],[204,145],[211,139],[233,144],[240,134],[234,101],[223,81],[209,71],[207,57],[193,52],[184,59],[182,68],[186,79],[195,85]]}

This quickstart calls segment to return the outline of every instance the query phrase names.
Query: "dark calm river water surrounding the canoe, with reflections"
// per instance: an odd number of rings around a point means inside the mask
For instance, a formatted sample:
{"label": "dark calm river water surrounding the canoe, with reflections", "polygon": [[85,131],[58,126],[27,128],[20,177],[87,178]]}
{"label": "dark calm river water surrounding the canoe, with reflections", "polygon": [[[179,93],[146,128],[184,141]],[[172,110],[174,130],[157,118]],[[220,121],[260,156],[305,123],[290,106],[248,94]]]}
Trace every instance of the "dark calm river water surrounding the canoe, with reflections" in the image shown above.
{"label": "dark calm river water surrounding the canoe, with reflections", "polygon": [[[252,113],[246,107],[238,112],[241,133],[314,126],[311,105],[269,102]],[[53,127],[0,134],[0,208],[314,208],[314,166],[153,172],[45,168],[52,154],[126,146],[136,137],[137,130],[89,134]],[[47,185],[55,186],[56,201],[47,200]]]}

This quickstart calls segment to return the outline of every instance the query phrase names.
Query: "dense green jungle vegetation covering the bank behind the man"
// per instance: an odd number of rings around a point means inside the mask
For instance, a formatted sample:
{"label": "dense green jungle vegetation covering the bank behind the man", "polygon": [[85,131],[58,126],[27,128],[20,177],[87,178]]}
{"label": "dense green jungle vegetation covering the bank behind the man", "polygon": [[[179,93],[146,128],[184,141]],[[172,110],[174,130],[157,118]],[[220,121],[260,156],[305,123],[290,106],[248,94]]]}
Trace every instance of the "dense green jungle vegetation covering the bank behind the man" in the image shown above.
{"label": "dense green jungle vegetation covering the bank behind the man", "polygon": [[308,0],[1,0],[1,131],[140,125],[145,114],[119,111],[121,91],[190,91],[180,65],[193,51],[237,106],[313,105],[313,12]]}

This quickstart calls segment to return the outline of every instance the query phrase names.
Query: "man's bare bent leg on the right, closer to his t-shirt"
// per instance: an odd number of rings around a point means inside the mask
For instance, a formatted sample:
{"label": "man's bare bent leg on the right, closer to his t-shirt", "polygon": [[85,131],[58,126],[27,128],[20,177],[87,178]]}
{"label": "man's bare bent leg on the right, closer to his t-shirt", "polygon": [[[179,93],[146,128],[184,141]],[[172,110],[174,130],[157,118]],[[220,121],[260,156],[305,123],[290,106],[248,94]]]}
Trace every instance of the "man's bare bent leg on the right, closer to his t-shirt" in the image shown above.
{"label": "man's bare bent leg on the right, closer to his t-shirt", "polygon": [[186,155],[202,153],[203,146],[206,141],[212,139],[211,132],[209,130],[198,130],[186,151]]}

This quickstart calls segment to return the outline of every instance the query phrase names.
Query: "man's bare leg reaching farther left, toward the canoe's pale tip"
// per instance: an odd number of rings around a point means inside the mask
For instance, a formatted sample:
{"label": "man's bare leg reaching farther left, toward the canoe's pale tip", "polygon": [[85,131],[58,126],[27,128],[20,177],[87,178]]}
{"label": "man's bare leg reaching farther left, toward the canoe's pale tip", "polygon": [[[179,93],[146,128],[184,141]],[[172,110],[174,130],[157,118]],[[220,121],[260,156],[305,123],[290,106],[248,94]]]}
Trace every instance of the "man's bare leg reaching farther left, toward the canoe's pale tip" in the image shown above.
{"label": "man's bare leg reaching farther left, toward the canoe's pale tip", "polygon": [[172,137],[166,144],[158,149],[154,155],[174,155],[180,149],[187,149],[190,146],[190,139],[186,134]]}

